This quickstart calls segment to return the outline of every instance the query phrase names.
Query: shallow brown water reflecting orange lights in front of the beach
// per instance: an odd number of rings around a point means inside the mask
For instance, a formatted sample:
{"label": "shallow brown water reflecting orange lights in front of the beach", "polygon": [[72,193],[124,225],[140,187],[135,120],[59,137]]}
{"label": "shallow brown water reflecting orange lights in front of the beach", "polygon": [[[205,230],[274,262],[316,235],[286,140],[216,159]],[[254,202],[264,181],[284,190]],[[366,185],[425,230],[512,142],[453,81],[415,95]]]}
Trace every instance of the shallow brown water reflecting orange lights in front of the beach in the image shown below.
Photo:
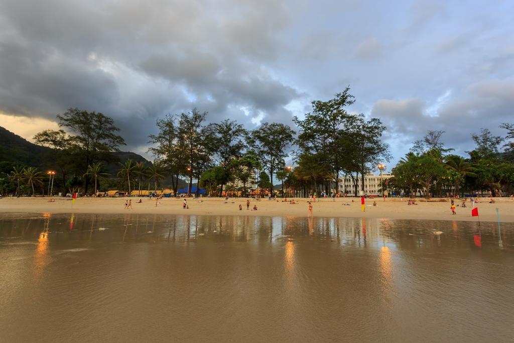
{"label": "shallow brown water reflecting orange lights in front of the beach", "polygon": [[0,216],[0,341],[511,341],[513,280],[513,224]]}

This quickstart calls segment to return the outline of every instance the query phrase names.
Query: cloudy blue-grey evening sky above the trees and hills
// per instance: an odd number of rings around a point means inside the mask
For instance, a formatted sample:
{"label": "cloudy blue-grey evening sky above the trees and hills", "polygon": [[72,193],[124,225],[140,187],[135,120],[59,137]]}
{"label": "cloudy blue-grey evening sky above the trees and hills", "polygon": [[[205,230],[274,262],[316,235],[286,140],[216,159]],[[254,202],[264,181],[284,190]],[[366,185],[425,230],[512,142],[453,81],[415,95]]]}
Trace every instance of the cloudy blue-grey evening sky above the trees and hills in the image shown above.
{"label": "cloudy blue-grey evening sky above the trees and hills", "polygon": [[0,126],[30,139],[79,107],[144,153],[168,113],[290,124],[350,85],[395,160],[427,130],[463,152],[514,122],[513,15],[500,0],[0,0]]}

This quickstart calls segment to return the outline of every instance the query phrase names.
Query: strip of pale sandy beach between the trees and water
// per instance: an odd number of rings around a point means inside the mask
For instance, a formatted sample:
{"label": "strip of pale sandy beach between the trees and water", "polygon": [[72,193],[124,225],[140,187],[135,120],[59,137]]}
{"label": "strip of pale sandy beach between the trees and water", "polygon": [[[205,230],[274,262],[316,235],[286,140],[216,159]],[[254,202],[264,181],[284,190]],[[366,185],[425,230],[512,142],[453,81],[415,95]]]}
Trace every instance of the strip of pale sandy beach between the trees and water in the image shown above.
{"label": "strip of pale sandy beach between the trees and water", "polygon": [[[296,204],[262,199],[257,201],[250,198],[250,210],[246,209],[246,198],[188,198],[189,209],[182,208],[182,200],[176,198],[162,198],[155,207],[155,200],[138,197],[132,198],[132,209],[124,209],[127,198],[78,198],[72,205],[69,198],[53,198],[49,202],[45,197],[3,198],[0,200],[0,212],[41,212],[41,213],[161,213],[161,214],[196,214],[196,215],[272,215],[272,216],[307,216],[307,201],[309,199],[295,199]],[[354,202],[352,202],[352,199]],[[497,221],[498,208],[501,222],[514,222],[514,200],[512,198],[496,198],[497,203],[490,204],[489,198],[479,198],[480,220]],[[449,201],[433,199],[430,202],[418,199],[418,205],[409,206],[407,201],[400,198],[388,198],[385,202],[377,199],[377,206],[373,201],[366,199],[365,212],[361,212],[360,198],[331,198],[318,200],[314,205],[314,216],[324,217],[350,217],[350,218],[388,218],[388,219],[417,219],[417,220],[452,220],[476,221],[471,216],[470,202],[468,207],[456,208],[456,215],[450,210]],[[350,206],[343,206],[350,204]],[[242,205],[243,210],[238,206]],[[462,201],[457,200],[461,205]],[[257,211],[251,210],[257,206]]]}

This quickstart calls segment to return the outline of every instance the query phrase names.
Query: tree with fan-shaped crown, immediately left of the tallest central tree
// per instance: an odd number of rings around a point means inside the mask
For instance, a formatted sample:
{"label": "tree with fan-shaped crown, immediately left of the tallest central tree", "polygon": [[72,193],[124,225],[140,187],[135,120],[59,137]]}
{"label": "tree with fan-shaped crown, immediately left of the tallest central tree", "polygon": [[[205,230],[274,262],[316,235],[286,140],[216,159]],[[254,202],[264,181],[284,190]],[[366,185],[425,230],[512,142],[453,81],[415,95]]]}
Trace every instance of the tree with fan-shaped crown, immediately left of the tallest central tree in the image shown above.
{"label": "tree with fan-shaped crown, immediately left of the tallest central tree", "polygon": [[248,136],[249,145],[261,159],[262,167],[270,175],[271,194],[273,194],[273,174],[287,156],[286,149],[293,142],[294,135],[295,131],[288,125],[263,123],[258,129],[252,130]]}

